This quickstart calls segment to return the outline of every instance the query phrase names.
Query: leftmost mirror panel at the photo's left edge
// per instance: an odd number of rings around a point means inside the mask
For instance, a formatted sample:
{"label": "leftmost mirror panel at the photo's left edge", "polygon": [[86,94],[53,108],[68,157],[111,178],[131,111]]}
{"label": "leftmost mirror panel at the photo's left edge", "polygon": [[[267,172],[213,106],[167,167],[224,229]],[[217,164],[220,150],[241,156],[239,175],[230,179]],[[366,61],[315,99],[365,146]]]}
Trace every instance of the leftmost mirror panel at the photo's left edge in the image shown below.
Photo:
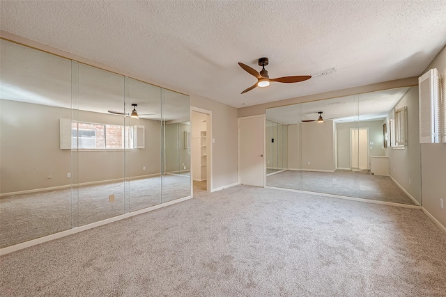
{"label": "leftmost mirror panel at the photo's left edge", "polygon": [[72,227],[71,152],[59,146],[59,119],[71,117],[71,65],[6,40],[0,40],[0,48],[4,248]]}

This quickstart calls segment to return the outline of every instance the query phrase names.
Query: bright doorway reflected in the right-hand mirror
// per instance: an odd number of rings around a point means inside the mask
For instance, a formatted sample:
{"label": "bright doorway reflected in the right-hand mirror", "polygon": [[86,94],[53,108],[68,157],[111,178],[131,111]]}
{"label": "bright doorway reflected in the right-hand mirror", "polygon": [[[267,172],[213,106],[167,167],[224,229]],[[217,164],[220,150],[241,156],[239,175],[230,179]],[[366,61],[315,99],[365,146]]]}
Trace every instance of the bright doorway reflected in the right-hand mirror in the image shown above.
{"label": "bright doorway reflected in the right-hand mirror", "polygon": [[369,169],[369,129],[350,129],[351,131],[351,169]]}

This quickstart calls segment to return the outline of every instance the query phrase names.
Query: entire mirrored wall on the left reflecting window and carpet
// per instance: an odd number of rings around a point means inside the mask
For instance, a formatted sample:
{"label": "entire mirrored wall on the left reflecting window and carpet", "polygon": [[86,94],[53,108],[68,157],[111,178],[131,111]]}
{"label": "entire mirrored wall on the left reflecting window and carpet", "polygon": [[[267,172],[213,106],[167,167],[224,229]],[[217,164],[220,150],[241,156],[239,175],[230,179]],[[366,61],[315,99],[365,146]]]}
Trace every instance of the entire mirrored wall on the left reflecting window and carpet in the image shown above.
{"label": "entire mirrored wall on the left reflecting window and carpet", "polygon": [[187,95],[0,42],[0,248],[191,195]]}

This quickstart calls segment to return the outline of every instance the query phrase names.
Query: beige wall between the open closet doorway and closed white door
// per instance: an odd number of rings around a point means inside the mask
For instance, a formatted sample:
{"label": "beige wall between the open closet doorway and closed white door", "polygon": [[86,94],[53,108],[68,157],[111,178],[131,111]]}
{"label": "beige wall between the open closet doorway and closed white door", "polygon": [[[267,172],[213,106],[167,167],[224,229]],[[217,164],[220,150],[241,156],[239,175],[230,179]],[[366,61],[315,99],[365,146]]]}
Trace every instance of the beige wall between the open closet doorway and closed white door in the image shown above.
{"label": "beige wall between the open closet doorway and closed white door", "polygon": [[213,189],[238,183],[237,109],[197,95],[190,104],[212,111]]}

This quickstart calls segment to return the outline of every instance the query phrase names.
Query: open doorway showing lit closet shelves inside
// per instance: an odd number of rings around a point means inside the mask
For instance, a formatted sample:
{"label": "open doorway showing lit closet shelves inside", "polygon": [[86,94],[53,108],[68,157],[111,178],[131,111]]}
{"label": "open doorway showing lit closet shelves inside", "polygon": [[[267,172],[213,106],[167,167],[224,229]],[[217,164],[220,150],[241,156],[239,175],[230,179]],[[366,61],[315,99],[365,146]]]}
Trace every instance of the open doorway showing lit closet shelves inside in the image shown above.
{"label": "open doorway showing lit closet shelves inside", "polygon": [[194,193],[212,190],[210,111],[192,106],[192,180]]}

